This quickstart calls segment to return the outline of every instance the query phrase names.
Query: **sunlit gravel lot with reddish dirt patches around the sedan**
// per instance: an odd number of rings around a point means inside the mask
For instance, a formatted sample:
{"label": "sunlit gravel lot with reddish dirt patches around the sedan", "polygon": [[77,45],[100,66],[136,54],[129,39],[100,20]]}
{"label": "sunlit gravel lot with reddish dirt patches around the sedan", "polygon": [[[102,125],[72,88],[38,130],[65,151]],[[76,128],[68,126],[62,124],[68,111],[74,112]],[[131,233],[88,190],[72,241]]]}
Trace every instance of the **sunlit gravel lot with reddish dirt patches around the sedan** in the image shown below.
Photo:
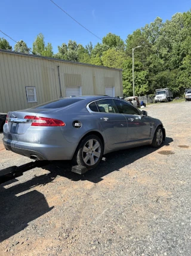
{"label": "sunlit gravel lot with reddish dirt patches around the sedan", "polygon": [[[110,153],[84,176],[54,162],[0,185],[1,255],[190,256],[190,104],[146,107],[166,128],[158,150]],[[0,143],[0,170],[29,161]]]}

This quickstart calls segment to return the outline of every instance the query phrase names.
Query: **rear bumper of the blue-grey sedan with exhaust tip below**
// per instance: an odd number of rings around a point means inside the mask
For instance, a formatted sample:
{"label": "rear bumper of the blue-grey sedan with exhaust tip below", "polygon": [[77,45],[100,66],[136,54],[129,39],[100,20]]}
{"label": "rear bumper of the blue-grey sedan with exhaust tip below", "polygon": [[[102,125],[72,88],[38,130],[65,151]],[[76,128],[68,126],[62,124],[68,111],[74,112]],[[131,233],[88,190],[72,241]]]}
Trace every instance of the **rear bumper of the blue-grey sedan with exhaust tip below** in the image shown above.
{"label": "rear bumper of the blue-grey sedan with exhaust tip below", "polygon": [[70,160],[73,157],[77,143],[64,141],[63,146],[41,145],[32,143],[19,143],[18,141],[3,138],[5,149],[11,150],[19,155],[38,160]]}

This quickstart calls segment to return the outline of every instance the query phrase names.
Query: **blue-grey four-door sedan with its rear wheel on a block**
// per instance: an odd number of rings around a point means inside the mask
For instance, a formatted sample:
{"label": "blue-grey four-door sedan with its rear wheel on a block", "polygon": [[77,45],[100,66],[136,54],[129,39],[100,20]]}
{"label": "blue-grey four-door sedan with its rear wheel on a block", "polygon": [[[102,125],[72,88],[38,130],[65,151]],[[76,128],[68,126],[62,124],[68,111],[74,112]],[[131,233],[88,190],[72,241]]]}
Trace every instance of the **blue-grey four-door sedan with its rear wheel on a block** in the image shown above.
{"label": "blue-grey four-door sedan with its rear wheel on a block", "polygon": [[73,159],[91,169],[106,153],[144,144],[160,147],[163,140],[161,121],[127,101],[81,96],[9,112],[3,143],[32,159]]}

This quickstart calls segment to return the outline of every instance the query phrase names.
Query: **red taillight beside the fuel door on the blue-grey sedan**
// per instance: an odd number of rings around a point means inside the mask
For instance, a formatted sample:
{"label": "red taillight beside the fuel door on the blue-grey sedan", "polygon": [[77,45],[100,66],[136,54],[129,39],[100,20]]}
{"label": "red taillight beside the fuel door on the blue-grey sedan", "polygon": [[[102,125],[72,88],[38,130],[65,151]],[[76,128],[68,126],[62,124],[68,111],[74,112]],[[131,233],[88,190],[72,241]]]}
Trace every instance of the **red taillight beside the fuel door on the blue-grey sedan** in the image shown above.
{"label": "red taillight beside the fuel door on the blue-grey sedan", "polygon": [[24,119],[33,119],[33,127],[64,127],[63,121],[54,118],[42,118],[41,116],[24,116]]}

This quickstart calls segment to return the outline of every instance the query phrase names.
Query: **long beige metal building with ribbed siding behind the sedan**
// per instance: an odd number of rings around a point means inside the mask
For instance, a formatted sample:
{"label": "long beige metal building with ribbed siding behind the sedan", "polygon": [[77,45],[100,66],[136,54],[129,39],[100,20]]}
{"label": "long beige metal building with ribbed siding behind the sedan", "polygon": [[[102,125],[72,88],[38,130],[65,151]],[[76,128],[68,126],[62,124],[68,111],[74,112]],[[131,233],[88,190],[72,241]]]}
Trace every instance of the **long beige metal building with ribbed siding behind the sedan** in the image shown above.
{"label": "long beige metal building with ribbed siding behind the sedan", "polygon": [[122,70],[0,49],[0,113],[72,95],[122,97]]}

